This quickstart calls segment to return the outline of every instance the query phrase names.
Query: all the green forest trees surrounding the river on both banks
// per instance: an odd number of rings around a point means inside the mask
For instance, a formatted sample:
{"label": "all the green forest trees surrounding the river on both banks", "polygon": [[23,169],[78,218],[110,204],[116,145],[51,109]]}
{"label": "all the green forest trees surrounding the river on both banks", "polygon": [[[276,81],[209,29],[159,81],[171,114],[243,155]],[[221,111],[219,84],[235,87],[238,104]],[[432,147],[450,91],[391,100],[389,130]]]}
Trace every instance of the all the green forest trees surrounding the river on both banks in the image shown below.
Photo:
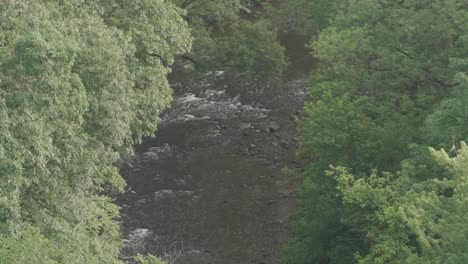
{"label": "all the green forest trees surrounding the river on both banks", "polygon": [[281,263],[468,263],[465,0],[1,0],[0,263],[164,263],[122,258],[119,161],[171,74],[284,78],[287,34],[314,63]]}

